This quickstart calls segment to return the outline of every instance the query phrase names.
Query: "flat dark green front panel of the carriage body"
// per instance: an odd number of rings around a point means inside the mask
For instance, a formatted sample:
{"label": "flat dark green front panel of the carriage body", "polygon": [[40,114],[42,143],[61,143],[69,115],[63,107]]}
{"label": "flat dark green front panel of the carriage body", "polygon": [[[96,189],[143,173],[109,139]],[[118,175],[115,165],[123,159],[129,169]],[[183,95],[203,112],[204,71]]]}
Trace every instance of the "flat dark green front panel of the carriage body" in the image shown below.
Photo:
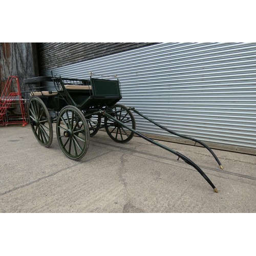
{"label": "flat dark green front panel of the carriage body", "polygon": [[92,78],[91,80],[94,96],[121,98],[119,82],[117,80],[106,80],[97,78]]}

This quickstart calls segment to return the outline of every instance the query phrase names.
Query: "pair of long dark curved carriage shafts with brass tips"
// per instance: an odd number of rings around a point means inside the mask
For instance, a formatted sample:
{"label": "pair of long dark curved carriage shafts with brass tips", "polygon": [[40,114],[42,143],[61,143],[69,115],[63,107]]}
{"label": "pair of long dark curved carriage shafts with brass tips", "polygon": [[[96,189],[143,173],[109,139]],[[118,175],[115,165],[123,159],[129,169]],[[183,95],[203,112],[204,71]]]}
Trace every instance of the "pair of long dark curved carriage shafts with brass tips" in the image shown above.
{"label": "pair of long dark curved carriage shafts with brass tips", "polygon": [[[208,147],[205,143],[201,142],[200,140],[197,140],[197,139],[194,139],[194,138],[190,138],[190,137],[187,137],[187,136],[184,136],[184,135],[181,135],[181,134],[178,134],[176,132],[173,132],[169,129],[167,129],[166,127],[162,126],[161,124],[153,121],[152,119],[144,116],[143,114],[141,114],[139,111],[137,111],[135,108],[126,108],[126,109],[122,109],[122,110],[132,110],[133,112],[135,112],[136,114],[138,114],[139,116],[145,118],[146,120],[152,122],[153,124],[157,125],[158,127],[160,127],[161,129],[163,129],[164,131],[168,132],[168,133],[171,133],[173,135],[176,135],[176,136],[179,136],[181,138],[184,138],[184,139],[189,139],[189,140],[192,140],[192,141],[195,141],[196,143],[199,143],[201,144],[202,146],[204,146],[210,153],[211,155],[216,159],[216,161],[218,162],[219,166],[221,169],[223,169],[222,165],[221,165],[221,162],[219,161],[218,157],[215,155],[215,153],[211,150],[210,147]],[[121,110],[121,111],[122,111]],[[115,113],[118,113],[120,111],[117,111]],[[99,114],[101,115],[104,115],[106,117],[108,117],[109,119],[113,120],[114,122],[118,123],[119,125],[121,126],[124,126],[126,129],[130,130],[131,132],[135,133],[136,135],[138,135],[139,137],[145,139],[146,141],[148,142],[151,142],[152,144],[155,144],[161,148],[163,148],[164,150],[167,150],[169,151],[170,153],[173,153],[174,155],[178,156],[178,159],[181,158],[185,163],[193,166],[202,176],[203,178],[210,184],[210,186],[214,189],[214,191],[216,193],[218,193],[218,189],[215,187],[215,185],[210,181],[210,179],[206,176],[206,174],[203,172],[203,170],[197,165],[195,164],[193,161],[191,161],[189,158],[187,158],[186,156],[182,155],[181,153],[175,151],[175,150],[172,150],[171,148],[161,144],[161,143],[158,143],[156,142],[155,140],[153,139],[150,139],[148,137],[146,137],[145,135],[139,133],[138,131],[132,129],[130,126],[126,125],[124,122],[114,118],[112,115],[110,115],[108,112],[106,111],[100,111]],[[196,144],[195,143],[195,144]]]}

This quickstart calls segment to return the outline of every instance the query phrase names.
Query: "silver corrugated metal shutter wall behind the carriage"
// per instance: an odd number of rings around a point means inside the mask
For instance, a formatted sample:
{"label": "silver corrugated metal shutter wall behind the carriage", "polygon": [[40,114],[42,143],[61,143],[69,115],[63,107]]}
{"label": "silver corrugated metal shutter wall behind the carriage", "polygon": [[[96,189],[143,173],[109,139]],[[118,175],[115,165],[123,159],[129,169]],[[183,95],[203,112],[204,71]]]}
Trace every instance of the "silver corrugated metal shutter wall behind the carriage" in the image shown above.
{"label": "silver corrugated metal shutter wall behind the carriage", "polygon": [[[212,147],[256,154],[256,43],[163,43],[52,70],[118,74],[120,103]],[[136,121],[140,132],[173,138]]]}

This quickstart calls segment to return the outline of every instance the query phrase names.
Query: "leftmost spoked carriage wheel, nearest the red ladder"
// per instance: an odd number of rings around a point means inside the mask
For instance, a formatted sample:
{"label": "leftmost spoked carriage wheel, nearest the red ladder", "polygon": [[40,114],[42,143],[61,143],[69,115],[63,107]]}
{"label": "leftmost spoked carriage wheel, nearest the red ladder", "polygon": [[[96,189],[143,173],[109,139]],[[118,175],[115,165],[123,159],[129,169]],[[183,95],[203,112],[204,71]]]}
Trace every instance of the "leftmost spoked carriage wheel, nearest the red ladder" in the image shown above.
{"label": "leftmost spoked carriage wheel, nearest the red ladder", "polygon": [[38,142],[49,147],[52,144],[53,129],[50,114],[45,103],[37,96],[33,96],[28,104],[29,122]]}

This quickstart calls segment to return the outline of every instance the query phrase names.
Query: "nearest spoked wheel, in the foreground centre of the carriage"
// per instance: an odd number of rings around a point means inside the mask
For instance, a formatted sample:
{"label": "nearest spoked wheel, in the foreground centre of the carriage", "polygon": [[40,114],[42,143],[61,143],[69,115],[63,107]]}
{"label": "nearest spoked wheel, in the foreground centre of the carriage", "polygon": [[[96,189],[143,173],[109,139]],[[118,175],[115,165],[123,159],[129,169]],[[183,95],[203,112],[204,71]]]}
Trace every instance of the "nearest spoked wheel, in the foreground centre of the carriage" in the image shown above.
{"label": "nearest spoked wheel, in the foreground centre of the carriage", "polygon": [[59,113],[56,133],[62,152],[72,160],[81,159],[89,146],[89,127],[82,112],[75,106],[65,106]]}

